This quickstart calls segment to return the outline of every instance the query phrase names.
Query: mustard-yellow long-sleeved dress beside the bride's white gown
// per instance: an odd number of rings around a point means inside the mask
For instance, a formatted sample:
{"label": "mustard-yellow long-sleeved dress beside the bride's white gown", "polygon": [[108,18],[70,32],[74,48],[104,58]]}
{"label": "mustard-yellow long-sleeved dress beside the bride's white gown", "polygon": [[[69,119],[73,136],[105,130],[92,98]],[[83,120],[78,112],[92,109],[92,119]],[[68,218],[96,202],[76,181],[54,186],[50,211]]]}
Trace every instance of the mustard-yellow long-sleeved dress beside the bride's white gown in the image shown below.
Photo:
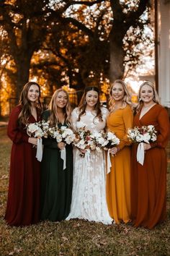
{"label": "mustard-yellow long-sleeved dress beside the bride's white gown", "polygon": [[107,174],[107,206],[116,223],[130,221],[130,141],[127,130],[133,127],[130,106],[117,109],[107,117],[107,128],[120,139],[120,151],[111,158],[111,171]]}

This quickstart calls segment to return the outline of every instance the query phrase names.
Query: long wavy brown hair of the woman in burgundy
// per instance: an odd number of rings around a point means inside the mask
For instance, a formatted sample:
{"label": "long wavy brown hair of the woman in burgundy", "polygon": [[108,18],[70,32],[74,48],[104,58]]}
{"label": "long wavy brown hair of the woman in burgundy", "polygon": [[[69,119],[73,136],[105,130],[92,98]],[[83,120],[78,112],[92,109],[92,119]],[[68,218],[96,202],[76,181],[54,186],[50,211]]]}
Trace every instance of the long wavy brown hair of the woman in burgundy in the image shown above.
{"label": "long wavy brown hair of the woman in burgundy", "polygon": [[28,91],[30,90],[31,85],[37,85],[38,87],[39,96],[38,96],[37,102],[35,102],[35,106],[39,108],[40,111],[42,111],[42,105],[40,102],[40,85],[38,85],[37,82],[27,82],[24,85],[24,88],[22,89],[22,92],[19,98],[19,104],[22,106],[22,111],[19,113],[19,116],[18,116],[19,126],[21,126],[22,124],[27,124],[28,119],[31,116],[31,103],[27,97]]}

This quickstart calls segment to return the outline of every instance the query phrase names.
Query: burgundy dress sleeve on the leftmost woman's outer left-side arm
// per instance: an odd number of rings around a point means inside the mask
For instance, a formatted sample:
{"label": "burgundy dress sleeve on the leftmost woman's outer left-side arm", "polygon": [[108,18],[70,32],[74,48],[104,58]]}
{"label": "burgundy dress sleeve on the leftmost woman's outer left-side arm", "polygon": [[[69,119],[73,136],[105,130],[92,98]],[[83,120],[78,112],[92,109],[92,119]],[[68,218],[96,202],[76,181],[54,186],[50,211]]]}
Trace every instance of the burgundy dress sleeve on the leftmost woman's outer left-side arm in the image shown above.
{"label": "burgundy dress sleeve on the leftmost woman's outer left-side arm", "polygon": [[21,109],[19,106],[15,107],[12,110],[11,115],[9,116],[9,124],[7,128],[7,135],[15,144],[22,142],[28,142],[29,136],[24,132],[23,128],[18,126],[18,116]]}

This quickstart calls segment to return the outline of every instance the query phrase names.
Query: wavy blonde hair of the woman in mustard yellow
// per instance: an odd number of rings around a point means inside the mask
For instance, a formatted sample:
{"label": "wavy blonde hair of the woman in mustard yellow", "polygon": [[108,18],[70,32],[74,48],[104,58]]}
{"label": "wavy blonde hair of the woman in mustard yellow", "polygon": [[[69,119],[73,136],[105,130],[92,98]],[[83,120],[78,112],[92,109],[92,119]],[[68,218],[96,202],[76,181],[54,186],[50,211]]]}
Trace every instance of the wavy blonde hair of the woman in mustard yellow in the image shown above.
{"label": "wavy blonde hair of the woman in mustard yellow", "polygon": [[115,80],[115,82],[112,83],[111,88],[109,89],[109,111],[111,111],[111,112],[114,111],[114,109],[115,109],[115,101],[112,98],[112,88],[114,88],[115,84],[117,84],[117,83],[122,85],[122,88],[125,93],[122,98],[122,102],[123,102],[122,108],[125,108],[125,106],[127,106],[127,104],[133,107],[133,104],[130,99],[130,94],[127,89],[127,85],[122,80]]}

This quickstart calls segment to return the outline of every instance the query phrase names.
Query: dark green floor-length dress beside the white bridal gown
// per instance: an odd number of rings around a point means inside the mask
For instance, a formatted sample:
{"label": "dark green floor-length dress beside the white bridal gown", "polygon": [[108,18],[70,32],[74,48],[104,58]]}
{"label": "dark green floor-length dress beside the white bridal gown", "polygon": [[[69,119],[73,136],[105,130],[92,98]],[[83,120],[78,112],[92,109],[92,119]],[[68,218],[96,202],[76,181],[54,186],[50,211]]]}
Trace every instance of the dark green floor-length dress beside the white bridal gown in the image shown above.
{"label": "dark green floor-length dress beside the white bridal gown", "polygon": [[[48,121],[50,111],[42,114]],[[58,124],[61,127],[63,124]],[[64,124],[64,126],[67,126]],[[73,183],[73,149],[66,145],[66,169],[55,139],[43,139],[43,156],[41,163],[41,209],[40,219],[49,221],[64,220],[71,207]]]}

